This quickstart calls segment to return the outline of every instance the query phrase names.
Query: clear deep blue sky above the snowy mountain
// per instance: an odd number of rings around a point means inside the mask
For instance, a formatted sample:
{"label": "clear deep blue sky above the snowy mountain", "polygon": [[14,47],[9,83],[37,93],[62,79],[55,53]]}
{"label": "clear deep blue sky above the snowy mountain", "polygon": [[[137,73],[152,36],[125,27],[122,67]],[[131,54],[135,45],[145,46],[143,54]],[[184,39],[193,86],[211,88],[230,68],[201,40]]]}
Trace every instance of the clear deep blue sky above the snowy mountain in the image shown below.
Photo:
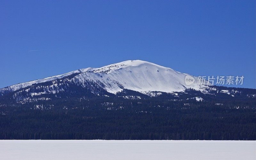
{"label": "clear deep blue sky above the snowy mountain", "polygon": [[137,59],[255,88],[255,34],[255,0],[2,0],[0,88]]}

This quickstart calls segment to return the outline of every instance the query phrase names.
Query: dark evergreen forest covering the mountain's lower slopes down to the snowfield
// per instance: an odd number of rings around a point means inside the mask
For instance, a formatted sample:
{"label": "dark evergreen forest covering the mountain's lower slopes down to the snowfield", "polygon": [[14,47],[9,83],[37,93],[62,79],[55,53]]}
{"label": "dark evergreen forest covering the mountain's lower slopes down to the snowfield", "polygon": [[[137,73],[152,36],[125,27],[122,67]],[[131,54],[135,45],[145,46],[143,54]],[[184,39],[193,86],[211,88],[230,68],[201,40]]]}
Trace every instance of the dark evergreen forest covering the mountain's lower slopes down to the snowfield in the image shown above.
{"label": "dark evergreen forest covering the mountain's lower slopes down to the snowfield", "polygon": [[214,87],[239,92],[188,89],[149,97],[125,89],[108,96],[79,91],[26,103],[8,94],[0,97],[0,139],[256,140],[255,89]]}

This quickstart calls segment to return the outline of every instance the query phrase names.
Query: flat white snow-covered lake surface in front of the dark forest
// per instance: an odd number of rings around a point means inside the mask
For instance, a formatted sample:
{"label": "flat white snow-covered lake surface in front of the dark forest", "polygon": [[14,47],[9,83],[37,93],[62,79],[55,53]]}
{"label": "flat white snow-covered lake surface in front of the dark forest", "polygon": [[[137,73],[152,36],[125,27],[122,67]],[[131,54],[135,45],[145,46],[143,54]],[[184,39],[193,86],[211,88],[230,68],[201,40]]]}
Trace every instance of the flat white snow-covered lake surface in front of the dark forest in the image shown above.
{"label": "flat white snow-covered lake surface in front of the dark forest", "polygon": [[0,159],[246,159],[256,141],[0,140]]}

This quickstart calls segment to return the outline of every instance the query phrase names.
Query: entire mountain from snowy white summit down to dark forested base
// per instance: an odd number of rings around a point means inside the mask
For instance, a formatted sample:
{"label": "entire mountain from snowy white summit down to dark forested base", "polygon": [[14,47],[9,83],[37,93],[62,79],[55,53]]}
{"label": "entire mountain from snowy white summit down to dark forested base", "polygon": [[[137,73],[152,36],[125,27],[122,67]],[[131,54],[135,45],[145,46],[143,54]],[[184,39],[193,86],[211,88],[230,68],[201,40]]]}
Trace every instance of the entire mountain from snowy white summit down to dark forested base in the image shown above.
{"label": "entire mountain from snowy white summit down to dark forested base", "polygon": [[186,76],[130,60],[6,87],[0,139],[255,140],[255,89]]}

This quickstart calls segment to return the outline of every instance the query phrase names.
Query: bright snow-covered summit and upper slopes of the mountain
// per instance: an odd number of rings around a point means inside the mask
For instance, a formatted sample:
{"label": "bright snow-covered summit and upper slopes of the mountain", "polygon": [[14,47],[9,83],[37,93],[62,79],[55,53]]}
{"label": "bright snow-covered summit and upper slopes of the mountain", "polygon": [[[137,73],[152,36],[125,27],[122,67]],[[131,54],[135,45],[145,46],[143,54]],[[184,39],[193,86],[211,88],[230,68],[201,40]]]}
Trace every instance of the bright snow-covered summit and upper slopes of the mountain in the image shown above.
{"label": "bright snow-covered summit and upper slopes of the mountain", "polygon": [[[78,69],[59,76],[52,76],[44,79],[15,84],[0,89],[0,93],[13,92],[22,88],[27,88],[35,84],[51,82],[49,87],[55,85],[58,90],[56,80],[65,79],[62,83],[76,83],[78,86],[87,87],[86,82],[90,81],[101,86],[110,93],[120,92],[123,89],[148,93],[150,91],[159,92],[181,92],[187,88],[192,88],[204,92],[207,88],[207,81],[197,84],[197,77],[194,83],[186,85],[185,77],[188,74],[177,72],[171,68],[159,66],[154,63],[142,60],[127,60],[120,63],[111,64],[101,68]],[[48,88],[49,88],[48,87]],[[61,89],[63,91],[63,88]],[[60,91],[53,91],[60,92]]]}

